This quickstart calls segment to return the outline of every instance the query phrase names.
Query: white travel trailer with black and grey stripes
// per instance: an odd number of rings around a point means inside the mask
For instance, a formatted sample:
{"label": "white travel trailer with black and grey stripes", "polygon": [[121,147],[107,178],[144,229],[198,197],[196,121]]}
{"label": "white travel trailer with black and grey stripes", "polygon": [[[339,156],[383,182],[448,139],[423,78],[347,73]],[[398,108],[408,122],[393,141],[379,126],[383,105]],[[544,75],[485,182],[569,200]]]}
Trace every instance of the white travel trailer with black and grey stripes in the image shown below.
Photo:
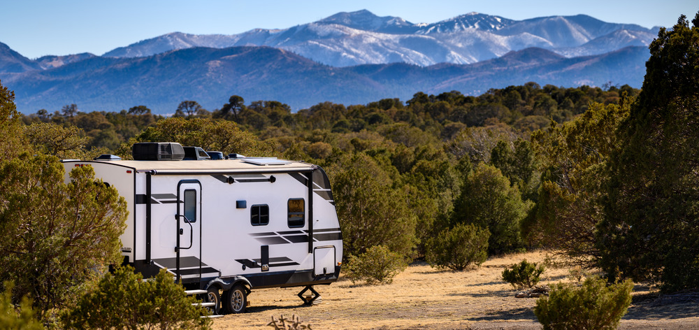
{"label": "white travel trailer with black and grey stripes", "polygon": [[[136,143],[135,160],[103,155],[96,178],[129,209],[124,264],[144,278],[167,269],[226,313],[242,313],[251,289],[305,287],[340,275],[343,241],[333,194],[319,166],[276,158],[181,160],[178,143]],[[310,290],[312,295],[304,296]]]}

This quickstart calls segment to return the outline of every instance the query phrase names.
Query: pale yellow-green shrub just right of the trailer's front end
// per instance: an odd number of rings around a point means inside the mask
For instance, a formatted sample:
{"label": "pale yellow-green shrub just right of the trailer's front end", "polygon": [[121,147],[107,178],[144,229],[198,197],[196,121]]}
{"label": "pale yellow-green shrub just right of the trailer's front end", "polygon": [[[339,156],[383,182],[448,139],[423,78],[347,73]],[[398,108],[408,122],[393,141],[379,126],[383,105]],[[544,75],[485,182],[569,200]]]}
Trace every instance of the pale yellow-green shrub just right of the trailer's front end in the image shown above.
{"label": "pale yellow-green shrub just right of the trailer's front end", "polygon": [[391,252],[384,245],[375,245],[359,254],[359,257],[350,255],[343,271],[352,283],[365,280],[367,284],[378,284],[393,282],[393,278],[407,266],[401,254]]}

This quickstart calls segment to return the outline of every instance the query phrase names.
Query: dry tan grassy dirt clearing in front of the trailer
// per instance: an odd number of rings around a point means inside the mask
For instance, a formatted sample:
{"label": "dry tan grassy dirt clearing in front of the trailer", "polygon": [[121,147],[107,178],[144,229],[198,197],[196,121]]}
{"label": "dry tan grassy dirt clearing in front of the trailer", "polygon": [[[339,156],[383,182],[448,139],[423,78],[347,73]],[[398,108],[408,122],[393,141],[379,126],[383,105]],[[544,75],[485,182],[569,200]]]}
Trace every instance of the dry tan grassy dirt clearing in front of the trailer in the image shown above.
{"label": "dry tan grassy dirt clearing in front of the trailer", "polygon": [[[514,298],[516,291],[500,280],[505,266],[545,254],[528,252],[493,258],[470,271],[439,271],[411,265],[390,285],[361,285],[340,277],[315,289],[322,302],[304,306],[302,288],[259,289],[248,296],[240,315],[214,320],[214,329],[273,329],[272,317],[296,315],[312,329],[541,329],[533,313],[536,299]],[[547,268],[541,284],[570,281],[567,268]],[[619,329],[699,329],[699,301],[658,299],[656,289],[636,285],[633,302]]]}

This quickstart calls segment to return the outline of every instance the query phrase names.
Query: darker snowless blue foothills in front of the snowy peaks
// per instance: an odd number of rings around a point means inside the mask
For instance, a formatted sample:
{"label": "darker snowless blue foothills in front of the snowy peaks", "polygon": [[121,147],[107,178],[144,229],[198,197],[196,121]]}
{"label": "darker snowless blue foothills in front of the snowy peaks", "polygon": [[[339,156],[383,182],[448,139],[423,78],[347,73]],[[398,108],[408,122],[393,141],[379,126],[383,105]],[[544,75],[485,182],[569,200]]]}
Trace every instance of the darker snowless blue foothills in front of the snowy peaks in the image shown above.
{"label": "darker snowless blue foothills in front of the snowy peaks", "polygon": [[574,58],[528,48],[468,65],[334,68],[276,48],[188,48],[152,57],[89,57],[55,69],[0,75],[0,79],[15,91],[17,109],[23,113],[41,108],[53,112],[70,103],[85,110],[146,105],[154,113],[173,113],[184,100],[215,110],[233,94],[250,101],[280,101],[299,110],[324,101],[406,100],[416,92],[459,90],[475,95],[528,81],[542,86],[601,86],[611,81],[638,88],[647,57],[642,47]]}

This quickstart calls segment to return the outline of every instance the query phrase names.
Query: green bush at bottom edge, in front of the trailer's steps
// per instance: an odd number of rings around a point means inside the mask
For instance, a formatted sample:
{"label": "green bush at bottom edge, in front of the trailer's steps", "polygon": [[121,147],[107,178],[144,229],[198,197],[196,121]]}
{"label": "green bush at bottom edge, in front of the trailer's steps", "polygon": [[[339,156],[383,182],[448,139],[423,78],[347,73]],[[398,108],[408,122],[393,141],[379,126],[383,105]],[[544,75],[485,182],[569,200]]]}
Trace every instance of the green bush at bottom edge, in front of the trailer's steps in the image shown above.
{"label": "green bush at bottom edge, in front of the trailer's steps", "polygon": [[209,329],[206,309],[161,270],[145,281],[134,268],[105,275],[78,306],[62,315],[66,329]]}

